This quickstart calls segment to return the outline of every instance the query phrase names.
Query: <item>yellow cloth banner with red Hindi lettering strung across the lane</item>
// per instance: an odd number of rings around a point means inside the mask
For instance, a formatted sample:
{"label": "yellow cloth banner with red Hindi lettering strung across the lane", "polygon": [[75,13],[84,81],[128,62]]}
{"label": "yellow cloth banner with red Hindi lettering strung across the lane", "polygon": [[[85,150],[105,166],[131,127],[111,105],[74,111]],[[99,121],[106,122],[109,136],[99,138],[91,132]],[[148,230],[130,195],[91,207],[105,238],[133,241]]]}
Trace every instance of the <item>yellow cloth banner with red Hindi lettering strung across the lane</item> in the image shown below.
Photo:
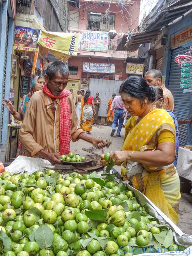
{"label": "yellow cloth banner with red Hindi lettering strung across the lane", "polygon": [[47,32],[41,30],[38,45],[48,49],[49,53],[66,62],[70,56],[76,56],[80,34]]}

